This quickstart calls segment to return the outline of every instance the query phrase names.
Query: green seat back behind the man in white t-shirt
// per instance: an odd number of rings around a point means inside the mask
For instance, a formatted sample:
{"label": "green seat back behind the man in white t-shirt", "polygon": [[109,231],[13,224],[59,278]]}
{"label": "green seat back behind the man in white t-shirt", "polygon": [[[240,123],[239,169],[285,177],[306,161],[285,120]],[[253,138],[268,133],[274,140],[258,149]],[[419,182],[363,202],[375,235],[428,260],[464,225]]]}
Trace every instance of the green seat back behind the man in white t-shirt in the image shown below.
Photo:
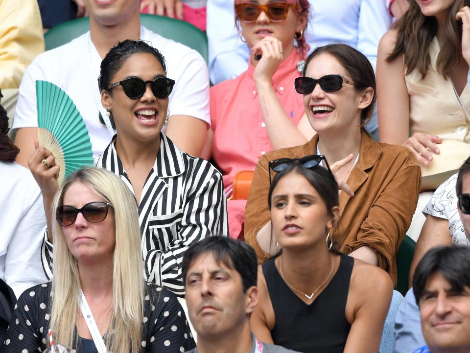
{"label": "green seat back behind the man in white t-shirt", "polygon": [[[192,24],[169,17],[141,14],[141,24],[162,37],[185,44],[196,50],[206,61],[209,61],[207,36]],[[84,17],[60,23],[44,35],[46,50],[69,43],[72,39],[81,36],[90,29],[90,19]],[[159,49],[159,48],[157,48]]]}

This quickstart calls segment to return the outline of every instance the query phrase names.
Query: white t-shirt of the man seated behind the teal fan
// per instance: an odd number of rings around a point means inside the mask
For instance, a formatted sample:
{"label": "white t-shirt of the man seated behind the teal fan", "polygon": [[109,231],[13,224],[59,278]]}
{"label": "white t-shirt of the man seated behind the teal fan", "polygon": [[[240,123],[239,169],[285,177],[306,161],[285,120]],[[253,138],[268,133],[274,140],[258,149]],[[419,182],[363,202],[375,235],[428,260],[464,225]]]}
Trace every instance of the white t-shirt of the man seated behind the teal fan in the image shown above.
{"label": "white t-shirt of the man seated behind the teal fan", "polygon": [[[209,72],[202,56],[143,26],[141,39],[162,52],[166,75],[175,80],[169,97],[169,119],[171,115],[189,115],[210,125]],[[90,32],[39,54],[24,73],[13,129],[38,126],[36,80],[46,80],[71,97],[87,125],[94,156],[102,154],[113,136],[98,119],[99,112],[106,116],[98,88],[100,64],[101,58],[90,40]]]}

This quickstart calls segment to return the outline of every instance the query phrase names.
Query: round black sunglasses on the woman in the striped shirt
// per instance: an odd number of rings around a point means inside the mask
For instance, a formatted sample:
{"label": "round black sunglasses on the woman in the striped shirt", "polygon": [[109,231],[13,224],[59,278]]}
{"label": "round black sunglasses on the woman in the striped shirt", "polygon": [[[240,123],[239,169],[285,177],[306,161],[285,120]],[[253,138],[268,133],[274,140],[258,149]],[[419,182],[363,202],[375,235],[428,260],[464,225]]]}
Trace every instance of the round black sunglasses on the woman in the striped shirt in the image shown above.
{"label": "round black sunglasses on the woman in the striped shirt", "polygon": [[155,98],[166,98],[170,95],[175,85],[175,81],[168,77],[158,77],[153,81],[143,81],[138,77],[126,78],[125,80],[113,83],[106,89],[111,89],[116,86],[122,86],[124,93],[131,99],[138,99],[143,96],[147,84],[152,87],[152,92]]}

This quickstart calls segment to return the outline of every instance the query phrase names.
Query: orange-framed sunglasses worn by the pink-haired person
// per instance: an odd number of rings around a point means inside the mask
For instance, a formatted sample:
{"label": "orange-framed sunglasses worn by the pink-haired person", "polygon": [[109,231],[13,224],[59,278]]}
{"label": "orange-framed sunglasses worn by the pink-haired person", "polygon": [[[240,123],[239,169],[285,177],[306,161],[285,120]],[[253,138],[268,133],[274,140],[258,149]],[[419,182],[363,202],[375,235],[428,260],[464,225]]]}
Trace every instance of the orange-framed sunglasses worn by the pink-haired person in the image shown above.
{"label": "orange-framed sunglasses worn by the pink-haired person", "polygon": [[271,22],[284,21],[289,12],[289,8],[299,8],[291,2],[270,2],[266,5],[259,5],[253,2],[235,4],[235,11],[241,22],[254,22],[263,11]]}

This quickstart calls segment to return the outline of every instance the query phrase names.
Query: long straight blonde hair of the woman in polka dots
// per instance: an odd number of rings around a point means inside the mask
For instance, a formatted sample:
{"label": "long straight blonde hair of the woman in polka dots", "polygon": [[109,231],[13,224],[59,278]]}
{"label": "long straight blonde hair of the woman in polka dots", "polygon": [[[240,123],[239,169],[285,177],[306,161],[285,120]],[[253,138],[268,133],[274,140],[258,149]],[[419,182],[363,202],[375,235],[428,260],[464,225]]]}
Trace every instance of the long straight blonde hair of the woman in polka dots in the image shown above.
{"label": "long straight blonde hair of the woman in polka dots", "polygon": [[80,313],[78,264],[67,246],[62,226],[55,220],[55,210],[62,205],[67,189],[78,181],[90,187],[114,209],[114,310],[105,335],[106,349],[113,353],[129,353],[130,346],[132,353],[138,353],[141,351],[144,278],[137,203],[134,195],[118,176],[100,168],[83,168],[69,176],[61,185],[52,204],[54,276],[50,328],[54,342],[69,347],[77,343],[73,342],[73,339],[77,313]]}

